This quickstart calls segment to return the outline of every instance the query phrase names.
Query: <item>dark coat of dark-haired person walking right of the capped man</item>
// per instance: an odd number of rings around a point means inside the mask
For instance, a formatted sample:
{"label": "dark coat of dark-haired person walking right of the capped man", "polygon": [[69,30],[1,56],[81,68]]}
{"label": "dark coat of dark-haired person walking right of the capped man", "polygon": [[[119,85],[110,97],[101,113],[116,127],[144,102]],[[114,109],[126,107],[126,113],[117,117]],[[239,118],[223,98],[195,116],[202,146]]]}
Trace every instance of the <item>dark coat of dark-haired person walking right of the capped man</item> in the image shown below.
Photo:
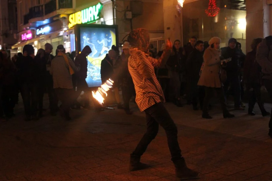
{"label": "dark coat of dark-haired person walking right of the capped man", "polygon": [[248,52],[244,61],[243,80],[246,83],[261,83],[261,66],[257,63],[256,51]]}

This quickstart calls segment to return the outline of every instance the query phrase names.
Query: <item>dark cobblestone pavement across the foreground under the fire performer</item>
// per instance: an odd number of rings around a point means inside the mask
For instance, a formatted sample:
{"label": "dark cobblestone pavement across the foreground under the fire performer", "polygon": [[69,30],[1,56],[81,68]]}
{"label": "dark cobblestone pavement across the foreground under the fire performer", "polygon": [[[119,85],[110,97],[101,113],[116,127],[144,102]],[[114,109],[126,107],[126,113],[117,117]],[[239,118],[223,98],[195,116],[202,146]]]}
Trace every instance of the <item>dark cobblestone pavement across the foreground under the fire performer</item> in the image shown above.
{"label": "dark cobblestone pavement across the foreground under the fire performer", "polygon": [[[48,111],[36,122],[24,122],[22,103],[16,106],[17,116],[0,122],[0,181],[178,180],[163,129],[141,159],[152,167],[128,171],[129,154],[146,129],[144,113],[135,104],[133,115],[76,110],[70,122]],[[188,167],[200,172],[199,180],[272,180],[269,118],[261,117],[258,107],[256,116],[234,111],[234,119],[223,119],[215,106],[214,119],[205,120],[191,106],[165,106],[177,124]],[[266,107],[270,110],[269,104]]]}

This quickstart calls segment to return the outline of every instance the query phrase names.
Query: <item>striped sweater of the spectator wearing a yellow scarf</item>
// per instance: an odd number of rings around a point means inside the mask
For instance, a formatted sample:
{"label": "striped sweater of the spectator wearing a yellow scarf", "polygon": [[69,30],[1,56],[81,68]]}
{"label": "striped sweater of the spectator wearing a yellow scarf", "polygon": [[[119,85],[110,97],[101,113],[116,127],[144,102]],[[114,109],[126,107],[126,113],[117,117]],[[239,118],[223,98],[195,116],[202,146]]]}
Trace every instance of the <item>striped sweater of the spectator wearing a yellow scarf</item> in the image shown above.
{"label": "striped sweater of the spectator wearing a yellow scarf", "polygon": [[[76,67],[73,60],[68,57],[71,68],[77,72],[80,67]],[[73,89],[72,75],[63,56],[55,56],[51,62],[50,74],[53,76],[53,88]]]}

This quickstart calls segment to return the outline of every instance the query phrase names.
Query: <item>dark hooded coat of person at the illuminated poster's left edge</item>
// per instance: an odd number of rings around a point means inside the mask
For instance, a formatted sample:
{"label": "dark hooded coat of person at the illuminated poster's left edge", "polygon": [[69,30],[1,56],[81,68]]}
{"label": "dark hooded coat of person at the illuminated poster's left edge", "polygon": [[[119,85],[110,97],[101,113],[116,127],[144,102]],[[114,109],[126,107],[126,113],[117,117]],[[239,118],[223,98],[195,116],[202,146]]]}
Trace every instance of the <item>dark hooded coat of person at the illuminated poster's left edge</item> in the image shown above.
{"label": "dark hooded coat of person at the illuminated poster's left edge", "polygon": [[92,52],[89,46],[85,46],[81,53],[76,56],[75,65],[80,65],[80,71],[76,73],[76,77],[79,79],[87,78],[87,71],[88,71],[88,59],[86,54],[90,54]]}

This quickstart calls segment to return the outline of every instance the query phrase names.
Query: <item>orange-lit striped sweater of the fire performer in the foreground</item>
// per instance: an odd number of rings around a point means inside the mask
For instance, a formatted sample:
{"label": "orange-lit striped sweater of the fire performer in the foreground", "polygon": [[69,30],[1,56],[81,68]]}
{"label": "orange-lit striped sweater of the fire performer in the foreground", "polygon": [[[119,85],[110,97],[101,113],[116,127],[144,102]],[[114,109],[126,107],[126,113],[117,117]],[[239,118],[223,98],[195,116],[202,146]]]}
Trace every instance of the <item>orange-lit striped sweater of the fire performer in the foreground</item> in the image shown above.
{"label": "orange-lit striped sweater of the fire performer in the foreground", "polygon": [[136,103],[140,111],[165,102],[164,93],[155,75],[154,67],[160,67],[166,62],[170,51],[164,51],[159,59],[148,56],[141,50],[132,52],[128,58],[128,70],[136,90]]}

